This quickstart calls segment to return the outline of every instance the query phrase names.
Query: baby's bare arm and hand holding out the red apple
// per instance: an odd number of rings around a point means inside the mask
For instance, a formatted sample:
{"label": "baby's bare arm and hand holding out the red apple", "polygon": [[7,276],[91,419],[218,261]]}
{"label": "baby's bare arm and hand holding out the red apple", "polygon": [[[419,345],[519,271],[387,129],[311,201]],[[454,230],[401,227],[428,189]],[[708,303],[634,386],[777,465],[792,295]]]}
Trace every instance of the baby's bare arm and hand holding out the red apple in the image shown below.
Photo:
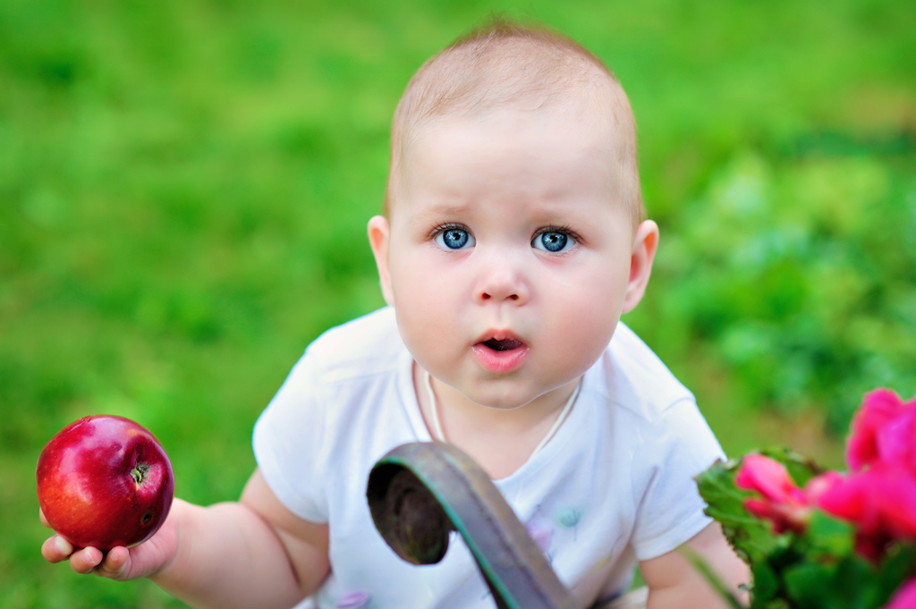
{"label": "baby's bare arm and hand holding out the red apple", "polygon": [[149,577],[192,606],[289,607],[327,575],[327,539],[326,525],[289,512],[256,470],[239,503],[201,507],[176,499],[156,535],[135,548],[73,552],[55,535],[42,554],[50,562],[69,559],[78,573]]}

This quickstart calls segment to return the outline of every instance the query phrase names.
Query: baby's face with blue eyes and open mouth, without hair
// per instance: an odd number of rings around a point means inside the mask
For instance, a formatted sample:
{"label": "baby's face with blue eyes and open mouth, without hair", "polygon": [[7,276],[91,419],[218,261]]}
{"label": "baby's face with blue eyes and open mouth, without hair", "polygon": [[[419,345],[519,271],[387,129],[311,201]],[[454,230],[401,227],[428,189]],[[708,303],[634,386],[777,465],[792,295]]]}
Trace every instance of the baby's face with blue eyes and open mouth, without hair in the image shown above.
{"label": "baby's face with blue eyes and open mouth, without hair", "polygon": [[603,135],[559,112],[501,112],[411,142],[387,241],[373,237],[383,288],[417,362],[478,404],[573,382],[635,304]]}

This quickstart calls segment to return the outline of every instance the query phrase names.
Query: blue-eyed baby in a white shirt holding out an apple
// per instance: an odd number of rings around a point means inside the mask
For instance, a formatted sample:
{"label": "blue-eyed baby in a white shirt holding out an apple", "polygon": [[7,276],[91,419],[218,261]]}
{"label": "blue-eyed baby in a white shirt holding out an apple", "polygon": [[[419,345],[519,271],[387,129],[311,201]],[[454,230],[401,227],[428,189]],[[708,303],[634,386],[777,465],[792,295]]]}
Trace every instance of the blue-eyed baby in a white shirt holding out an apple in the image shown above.
{"label": "blue-eyed baby in a white shirt holding out an apple", "polygon": [[583,607],[626,592],[637,564],[653,609],[725,606],[676,551],[747,581],[692,481],[721,449],[619,321],[659,230],[605,66],[501,21],[427,61],[398,104],[368,235],[389,306],[309,346],[258,419],[240,501],[176,500],[140,546],[53,536],[45,558],[202,607],[489,608],[460,539],[410,565],[366,505],[377,459],[443,440],[489,473]]}

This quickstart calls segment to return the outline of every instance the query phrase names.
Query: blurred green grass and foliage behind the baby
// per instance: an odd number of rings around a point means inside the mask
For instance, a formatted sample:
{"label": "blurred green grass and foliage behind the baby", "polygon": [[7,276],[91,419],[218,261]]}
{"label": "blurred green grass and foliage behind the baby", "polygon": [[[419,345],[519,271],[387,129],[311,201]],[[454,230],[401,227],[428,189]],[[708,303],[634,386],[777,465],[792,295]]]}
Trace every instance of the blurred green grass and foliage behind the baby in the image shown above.
{"label": "blurred green grass and foliage behind the baby", "polygon": [[916,393],[916,4],[0,0],[0,607],[180,607],[38,554],[34,467],[91,413],[236,497],[318,333],[382,304],[365,243],[390,116],[494,10],[604,59],[662,240],[625,320],[726,451],[822,462]]}

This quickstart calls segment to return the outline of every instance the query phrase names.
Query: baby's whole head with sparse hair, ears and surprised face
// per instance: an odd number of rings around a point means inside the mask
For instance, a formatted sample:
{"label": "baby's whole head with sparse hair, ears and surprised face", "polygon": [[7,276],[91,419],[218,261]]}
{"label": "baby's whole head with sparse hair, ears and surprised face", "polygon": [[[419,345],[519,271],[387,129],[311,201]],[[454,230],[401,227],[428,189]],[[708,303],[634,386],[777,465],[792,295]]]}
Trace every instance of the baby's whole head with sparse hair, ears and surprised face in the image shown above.
{"label": "baby's whole head with sparse hair, ears and surprised face", "polygon": [[503,22],[410,81],[386,207],[369,241],[401,338],[440,391],[495,408],[572,391],[642,298],[658,237],[619,83],[573,41]]}

